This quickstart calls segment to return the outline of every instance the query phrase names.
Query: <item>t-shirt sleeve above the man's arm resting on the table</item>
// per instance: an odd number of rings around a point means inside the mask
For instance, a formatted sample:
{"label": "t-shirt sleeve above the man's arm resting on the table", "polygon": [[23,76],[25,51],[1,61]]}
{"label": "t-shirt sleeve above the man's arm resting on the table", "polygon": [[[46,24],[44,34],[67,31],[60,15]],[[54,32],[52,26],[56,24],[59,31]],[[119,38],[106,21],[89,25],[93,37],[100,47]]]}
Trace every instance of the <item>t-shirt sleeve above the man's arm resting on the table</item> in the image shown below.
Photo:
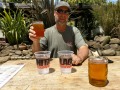
{"label": "t-shirt sleeve above the man's arm resting on the table", "polygon": [[80,47],[83,46],[83,45],[88,46],[88,45],[85,43],[85,41],[84,41],[84,39],[83,39],[80,31],[78,30],[78,28],[73,27],[73,30],[74,30],[74,33],[75,33],[75,45],[76,45],[76,47],[77,47],[77,48],[80,48]]}

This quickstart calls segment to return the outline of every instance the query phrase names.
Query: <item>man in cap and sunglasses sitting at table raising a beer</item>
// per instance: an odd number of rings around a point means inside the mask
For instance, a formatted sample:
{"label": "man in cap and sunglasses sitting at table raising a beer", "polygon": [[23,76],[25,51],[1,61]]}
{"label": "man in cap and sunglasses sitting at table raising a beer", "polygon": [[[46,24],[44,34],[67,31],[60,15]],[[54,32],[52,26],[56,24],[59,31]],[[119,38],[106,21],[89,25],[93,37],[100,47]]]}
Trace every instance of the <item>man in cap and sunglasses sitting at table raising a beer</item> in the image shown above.
{"label": "man in cap and sunglasses sitting at table raising a beer", "polygon": [[54,17],[56,24],[44,32],[43,38],[36,38],[33,27],[29,30],[29,38],[33,41],[33,52],[39,50],[51,51],[51,57],[58,57],[60,50],[72,50],[72,63],[81,64],[88,57],[88,47],[84,42],[80,31],[76,27],[67,25],[70,5],[61,1],[55,6]]}

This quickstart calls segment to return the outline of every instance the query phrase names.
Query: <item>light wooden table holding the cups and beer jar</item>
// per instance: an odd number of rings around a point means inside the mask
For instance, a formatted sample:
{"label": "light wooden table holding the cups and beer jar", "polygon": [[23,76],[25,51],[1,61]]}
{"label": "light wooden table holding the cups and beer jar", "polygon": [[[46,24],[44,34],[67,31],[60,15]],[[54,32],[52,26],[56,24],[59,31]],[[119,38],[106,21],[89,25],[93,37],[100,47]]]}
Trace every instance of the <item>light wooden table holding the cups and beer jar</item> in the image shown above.
{"label": "light wooden table holding the cups and beer jar", "polygon": [[120,90],[120,56],[108,58],[114,63],[108,65],[109,83],[105,87],[89,84],[87,60],[82,66],[74,66],[71,74],[62,74],[58,58],[54,58],[50,64],[50,73],[46,75],[38,74],[35,59],[4,63],[25,63],[25,66],[0,90]]}

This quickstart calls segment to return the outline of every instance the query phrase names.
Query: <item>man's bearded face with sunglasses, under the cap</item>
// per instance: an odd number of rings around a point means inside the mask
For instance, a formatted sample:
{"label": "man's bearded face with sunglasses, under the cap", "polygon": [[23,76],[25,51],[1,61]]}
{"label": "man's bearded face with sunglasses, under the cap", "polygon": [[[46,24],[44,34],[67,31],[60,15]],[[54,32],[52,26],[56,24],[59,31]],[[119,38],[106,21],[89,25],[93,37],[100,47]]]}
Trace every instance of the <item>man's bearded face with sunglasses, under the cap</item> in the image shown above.
{"label": "man's bearded face with sunglasses, under the cap", "polygon": [[69,9],[67,7],[59,7],[55,12],[55,22],[59,24],[66,24],[69,18]]}

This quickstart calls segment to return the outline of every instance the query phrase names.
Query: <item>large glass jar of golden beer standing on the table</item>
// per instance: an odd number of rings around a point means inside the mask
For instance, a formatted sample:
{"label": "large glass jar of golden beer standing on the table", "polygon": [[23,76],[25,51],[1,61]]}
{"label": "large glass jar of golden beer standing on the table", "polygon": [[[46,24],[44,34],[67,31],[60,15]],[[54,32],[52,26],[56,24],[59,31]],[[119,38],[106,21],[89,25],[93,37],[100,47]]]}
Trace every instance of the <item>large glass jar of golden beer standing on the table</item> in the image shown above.
{"label": "large glass jar of golden beer standing on the table", "polygon": [[91,56],[88,59],[89,83],[93,86],[107,85],[108,60],[101,56]]}

